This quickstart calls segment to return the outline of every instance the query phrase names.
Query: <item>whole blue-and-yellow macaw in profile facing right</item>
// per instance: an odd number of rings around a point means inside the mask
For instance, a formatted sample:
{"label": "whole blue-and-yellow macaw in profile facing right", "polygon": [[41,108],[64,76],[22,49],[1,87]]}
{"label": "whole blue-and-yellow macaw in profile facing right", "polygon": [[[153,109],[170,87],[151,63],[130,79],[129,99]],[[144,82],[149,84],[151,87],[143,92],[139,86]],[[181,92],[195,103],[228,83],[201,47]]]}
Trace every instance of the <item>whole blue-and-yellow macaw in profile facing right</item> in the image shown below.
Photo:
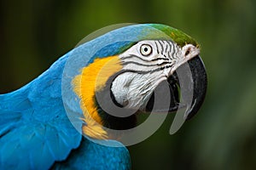
{"label": "whole blue-and-yellow macaw in profile facing right", "polygon": [[[154,112],[162,82],[172,102],[155,112],[186,105],[177,80],[186,63],[192,77],[185,86],[194,95],[185,119],[194,116],[207,90],[199,54],[192,37],[161,24],[124,26],[79,44],[32,82],[0,95],[0,169],[131,169],[125,145],[103,127],[135,127],[141,112]],[[137,114],[110,115],[113,105]]]}

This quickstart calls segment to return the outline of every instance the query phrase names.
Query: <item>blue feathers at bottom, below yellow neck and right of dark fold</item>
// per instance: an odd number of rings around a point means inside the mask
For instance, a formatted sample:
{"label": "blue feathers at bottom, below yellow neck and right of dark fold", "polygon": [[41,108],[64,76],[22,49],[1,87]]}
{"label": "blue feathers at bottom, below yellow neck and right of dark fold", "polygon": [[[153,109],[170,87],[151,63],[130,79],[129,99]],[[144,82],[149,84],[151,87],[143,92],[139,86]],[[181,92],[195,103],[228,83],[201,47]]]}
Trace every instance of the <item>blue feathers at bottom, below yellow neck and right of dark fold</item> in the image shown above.
{"label": "blue feathers at bottom, below yellow neck and right of dark fold", "polygon": [[79,148],[73,150],[66,161],[55,162],[52,169],[131,169],[129,151],[117,141],[109,140],[108,143],[120,147],[108,147],[82,139]]}

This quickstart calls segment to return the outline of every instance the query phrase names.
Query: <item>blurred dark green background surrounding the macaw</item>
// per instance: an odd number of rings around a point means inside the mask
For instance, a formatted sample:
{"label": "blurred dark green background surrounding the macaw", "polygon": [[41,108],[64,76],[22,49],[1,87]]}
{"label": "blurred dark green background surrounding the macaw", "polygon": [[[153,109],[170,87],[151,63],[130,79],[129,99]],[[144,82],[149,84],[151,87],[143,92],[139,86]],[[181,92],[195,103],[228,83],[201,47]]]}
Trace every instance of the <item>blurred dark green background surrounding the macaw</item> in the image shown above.
{"label": "blurred dark green background surrounding the macaw", "polygon": [[84,36],[117,23],[163,23],[201,43],[209,86],[174,135],[172,116],[129,147],[133,169],[256,169],[256,1],[2,0],[0,93],[38,77]]}

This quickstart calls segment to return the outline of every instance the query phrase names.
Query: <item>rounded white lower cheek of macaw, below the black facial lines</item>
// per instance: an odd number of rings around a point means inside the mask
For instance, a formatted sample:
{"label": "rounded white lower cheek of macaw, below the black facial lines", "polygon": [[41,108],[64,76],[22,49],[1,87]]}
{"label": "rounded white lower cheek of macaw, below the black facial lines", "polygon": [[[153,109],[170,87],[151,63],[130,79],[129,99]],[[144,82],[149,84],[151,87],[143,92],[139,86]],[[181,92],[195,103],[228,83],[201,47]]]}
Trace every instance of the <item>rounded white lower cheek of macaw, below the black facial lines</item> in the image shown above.
{"label": "rounded white lower cheek of macaw, below the black facial lines", "polygon": [[132,109],[144,109],[154,88],[163,80],[166,80],[166,77],[157,75],[156,72],[150,75],[125,72],[114,79],[111,90],[120,105]]}

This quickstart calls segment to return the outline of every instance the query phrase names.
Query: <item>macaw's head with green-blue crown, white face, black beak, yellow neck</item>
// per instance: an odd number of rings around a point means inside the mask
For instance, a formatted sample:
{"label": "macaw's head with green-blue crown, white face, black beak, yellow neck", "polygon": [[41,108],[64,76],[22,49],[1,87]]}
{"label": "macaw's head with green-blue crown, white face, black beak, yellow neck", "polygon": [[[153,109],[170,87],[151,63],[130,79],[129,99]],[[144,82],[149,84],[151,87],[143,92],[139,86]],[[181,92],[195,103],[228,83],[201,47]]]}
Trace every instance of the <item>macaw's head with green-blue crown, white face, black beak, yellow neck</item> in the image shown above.
{"label": "macaw's head with green-blue crown, white face, black beak, yellow neck", "polygon": [[125,26],[79,48],[88,46],[98,48],[73,78],[87,136],[108,139],[102,126],[135,127],[142,112],[185,107],[188,120],[201,108],[207,73],[199,44],[183,31],[159,24]]}

